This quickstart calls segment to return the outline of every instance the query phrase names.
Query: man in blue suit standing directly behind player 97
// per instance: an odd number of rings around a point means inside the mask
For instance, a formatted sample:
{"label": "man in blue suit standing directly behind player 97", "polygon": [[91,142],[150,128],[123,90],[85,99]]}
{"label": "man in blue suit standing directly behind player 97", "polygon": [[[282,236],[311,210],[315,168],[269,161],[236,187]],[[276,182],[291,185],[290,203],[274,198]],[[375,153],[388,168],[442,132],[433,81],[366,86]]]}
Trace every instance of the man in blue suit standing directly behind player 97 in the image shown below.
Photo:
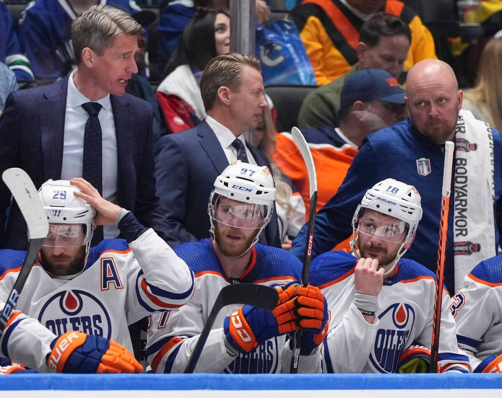
{"label": "man in blue suit standing directly behind player 97", "polygon": [[[232,162],[268,166],[243,133],[257,128],[266,108],[260,61],[230,53],[213,58],[200,81],[207,117],[196,127],[162,137],[155,149],[157,193],[169,228],[180,242],[209,236],[207,200],[214,180]],[[241,239],[238,231],[234,239]],[[277,215],[260,242],[281,247]]]}

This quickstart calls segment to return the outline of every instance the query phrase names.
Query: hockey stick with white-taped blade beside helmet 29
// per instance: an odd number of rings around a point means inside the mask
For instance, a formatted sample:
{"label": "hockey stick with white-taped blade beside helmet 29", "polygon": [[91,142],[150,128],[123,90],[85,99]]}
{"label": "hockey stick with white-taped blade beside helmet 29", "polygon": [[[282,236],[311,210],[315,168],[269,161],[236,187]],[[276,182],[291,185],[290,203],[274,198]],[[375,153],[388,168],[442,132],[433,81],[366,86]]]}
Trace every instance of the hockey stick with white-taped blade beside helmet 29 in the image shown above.
{"label": "hockey stick with white-taped blade beside helmet 29", "polygon": [[2,179],[12,192],[23,217],[25,218],[30,234],[30,246],[26,254],[25,262],[18,275],[18,279],[9,294],[7,303],[0,313],[0,337],[4,332],[7,322],[11,317],[12,311],[16,307],[19,295],[25,286],[25,282],[30,275],[33,263],[35,262],[38,252],[44,243],[47,233],[49,232],[49,223],[47,214],[42,207],[35,185],[24,170],[18,168],[7,169],[2,174]]}

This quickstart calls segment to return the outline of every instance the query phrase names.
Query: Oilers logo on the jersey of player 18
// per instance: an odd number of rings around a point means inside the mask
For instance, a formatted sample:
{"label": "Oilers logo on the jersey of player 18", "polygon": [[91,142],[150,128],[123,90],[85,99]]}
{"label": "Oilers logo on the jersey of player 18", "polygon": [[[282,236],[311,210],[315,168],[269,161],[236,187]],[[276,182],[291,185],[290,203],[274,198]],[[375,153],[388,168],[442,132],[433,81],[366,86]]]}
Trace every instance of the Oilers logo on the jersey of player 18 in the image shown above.
{"label": "Oilers logo on the jersey of player 18", "polygon": [[379,319],[381,325],[389,328],[379,329],[376,332],[369,360],[379,372],[393,373],[413,330],[415,310],[409,304],[395,303],[383,311]]}

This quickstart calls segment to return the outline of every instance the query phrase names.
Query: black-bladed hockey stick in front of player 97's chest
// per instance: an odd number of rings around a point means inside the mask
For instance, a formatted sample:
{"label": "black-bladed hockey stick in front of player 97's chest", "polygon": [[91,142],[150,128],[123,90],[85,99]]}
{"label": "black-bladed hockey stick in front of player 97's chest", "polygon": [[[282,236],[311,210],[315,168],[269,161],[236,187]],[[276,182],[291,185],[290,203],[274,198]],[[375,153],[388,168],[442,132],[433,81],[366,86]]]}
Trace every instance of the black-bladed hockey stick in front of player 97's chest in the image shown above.
{"label": "black-bladed hockey stick in front of player 97's chest", "polygon": [[279,294],[277,290],[264,285],[242,283],[227,285],[221,289],[183,373],[193,373],[202,353],[202,348],[216,319],[216,315],[218,315],[223,307],[231,304],[247,304],[272,311],[276,308],[278,301]]}

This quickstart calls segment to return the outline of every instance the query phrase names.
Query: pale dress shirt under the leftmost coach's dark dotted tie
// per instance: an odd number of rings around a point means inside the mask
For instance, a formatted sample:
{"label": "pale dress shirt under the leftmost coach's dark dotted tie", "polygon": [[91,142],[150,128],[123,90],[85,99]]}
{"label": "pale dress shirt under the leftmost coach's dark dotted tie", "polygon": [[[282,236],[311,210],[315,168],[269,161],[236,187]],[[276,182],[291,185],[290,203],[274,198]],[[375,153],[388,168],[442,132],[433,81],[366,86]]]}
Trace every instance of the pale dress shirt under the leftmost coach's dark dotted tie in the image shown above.
{"label": "pale dress shirt under the leftmost coach's dark dotted tie", "polygon": [[[84,130],[89,115],[82,107],[83,103],[92,102],[85,97],[73,83],[73,74],[68,79],[66,95],[66,113],[64,119],[63,139],[63,164],[61,179],[70,180],[74,177],[82,177],[83,154],[84,154]],[[115,136],[115,122],[111,109],[110,95],[98,99],[102,105],[98,114],[101,124],[102,135],[102,189],[103,198],[117,203],[117,140]],[[119,234],[114,225],[105,225],[103,228],[104,238],[114,238]]]}

